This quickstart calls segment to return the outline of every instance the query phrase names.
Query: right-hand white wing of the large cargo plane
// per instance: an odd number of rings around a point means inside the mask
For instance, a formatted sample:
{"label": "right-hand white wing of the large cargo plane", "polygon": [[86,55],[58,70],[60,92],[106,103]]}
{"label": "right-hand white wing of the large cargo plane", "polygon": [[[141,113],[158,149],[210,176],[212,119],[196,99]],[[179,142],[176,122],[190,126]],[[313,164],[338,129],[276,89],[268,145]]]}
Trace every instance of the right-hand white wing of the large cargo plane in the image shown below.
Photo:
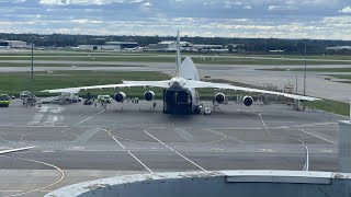
{"label": "right-hand white wing of the large cargo plane", "polygon": [[225,84],[225,83],[212,83],[212,82],[205,82],[205,81],[188,81],[184,88],[188,88],[188,89],[212,88],[212,89],[224,89],[224,90],[238,90],[238,91],[245,91],[245,92],[258,92],[258,93],[263,93],[263,94],[281,95],[281,96],[291,97],[291,99],[301,100],[301,101],[321,100],[321,99],[312,97],[312,96],[303,96],[303,95],[297,95],[297,94],[288,94],[288,93],[283,93],[283,92],[265,91],[265,90],[260,90],[260,89],[237,86],[237,85]]}

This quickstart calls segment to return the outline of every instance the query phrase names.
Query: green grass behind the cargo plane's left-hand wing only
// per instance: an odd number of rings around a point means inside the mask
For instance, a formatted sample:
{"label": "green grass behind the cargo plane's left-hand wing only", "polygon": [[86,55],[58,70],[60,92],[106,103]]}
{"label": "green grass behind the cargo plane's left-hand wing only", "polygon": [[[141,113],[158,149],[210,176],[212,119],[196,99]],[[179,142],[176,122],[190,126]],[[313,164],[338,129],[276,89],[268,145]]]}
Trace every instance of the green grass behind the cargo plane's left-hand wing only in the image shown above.
{"label": "green grass behind the cargo plane's left-hand wing only", "polygon": [[[35,94],[46,89],[60,89],[82,85],[99,85],[121,83],[122,80],[165,80],[168,74],[160,72],[111,72],[111,71],[54,71],[34,72]],[[30,90],[30,80],[26,72],[0,73],[0,92],[19,94],[20,91]],[[136,90],[136,89],[131,89]],[[95,90],[97,93],[112,93],[113,90]]]}

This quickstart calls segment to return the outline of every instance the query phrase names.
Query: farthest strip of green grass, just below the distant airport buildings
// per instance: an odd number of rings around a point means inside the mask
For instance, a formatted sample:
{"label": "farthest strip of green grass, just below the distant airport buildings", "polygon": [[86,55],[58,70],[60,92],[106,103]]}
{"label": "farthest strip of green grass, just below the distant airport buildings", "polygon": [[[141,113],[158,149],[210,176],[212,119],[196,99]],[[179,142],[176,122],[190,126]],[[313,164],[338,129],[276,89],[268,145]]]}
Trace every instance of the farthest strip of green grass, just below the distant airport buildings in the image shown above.
{"label": "farthest strip of green grass, just below the distant airport buildings", "polygon": [[[131,55],[132,54],[132,55]],[[75,56],[76,55],[76,56]],[[174,55],[171,54],[133,54],[133,53],[120,53],[117,55],[113,55],[111,53],[106,54],[93,54],[92,56],[88,56],[87,54],[82,53],[71,53],[68,55],[64,54],[38,54],[38,57],[34,56],[34,60],[54,60],[54,61],[128,61],[128,62],[174,62],[174,57],[169,56],[162,56],[162,55]],[[186,55],[183,55],[185,57]],[[270,56],[259,56],[259,57],[252,57],[250,56],[214,56],[204,54],[204,57],[206,56],[205,60],[202,60],[201,57],[199,57],[200,54],[196,54],[196,57],[192,57],[193,61],[195,63],[216,63],[216,65],[304,65],[304,60],[302,59],[284,59],[284,58],[275,58],[275,59],[269,59]],[[214,58],[212,58],[214,57]],[[261,57],[261,58],[260,58]],[[321,58],[320,58],[321,59]],[[31,56],[26,55],[23,56],[15,56],[13,54],[11,55],[0,55],[0,60],[31,60]],[[339,60],[339,59],[335,59]],[[57,62],[59,63],[59,62]],[[309,59],[308,65],[350,65],[350,61],[321,61],[318,58],[317,59]],[[0,65],[1,66],[1,65]],[[43,65],[37,65],[43,66]]]}

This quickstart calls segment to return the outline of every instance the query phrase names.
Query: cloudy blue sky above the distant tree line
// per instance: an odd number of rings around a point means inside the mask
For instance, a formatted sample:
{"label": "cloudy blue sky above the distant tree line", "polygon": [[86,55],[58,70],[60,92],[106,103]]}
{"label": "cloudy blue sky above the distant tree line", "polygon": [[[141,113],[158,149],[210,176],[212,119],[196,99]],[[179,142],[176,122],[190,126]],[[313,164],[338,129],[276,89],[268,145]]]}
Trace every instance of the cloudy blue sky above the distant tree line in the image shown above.
{"label": "cloudy blue sky above the distant tree line", "polygon": [[351,0],[0,0],[0,32],[351,39]]}

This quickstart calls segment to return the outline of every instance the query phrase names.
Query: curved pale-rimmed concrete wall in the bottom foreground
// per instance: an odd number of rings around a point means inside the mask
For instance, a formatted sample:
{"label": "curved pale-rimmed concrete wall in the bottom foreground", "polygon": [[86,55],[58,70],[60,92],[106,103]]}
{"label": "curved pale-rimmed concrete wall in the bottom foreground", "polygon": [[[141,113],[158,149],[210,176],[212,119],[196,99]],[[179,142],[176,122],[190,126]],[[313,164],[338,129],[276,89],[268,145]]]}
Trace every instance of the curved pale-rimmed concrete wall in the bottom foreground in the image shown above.
{"label": "curved pale-rimmed concrete wall in the bottom foreground", "polygon": [[306,171],[219,171],[131,175],[84,182],[46,197],[350,197],[351,174]]}

